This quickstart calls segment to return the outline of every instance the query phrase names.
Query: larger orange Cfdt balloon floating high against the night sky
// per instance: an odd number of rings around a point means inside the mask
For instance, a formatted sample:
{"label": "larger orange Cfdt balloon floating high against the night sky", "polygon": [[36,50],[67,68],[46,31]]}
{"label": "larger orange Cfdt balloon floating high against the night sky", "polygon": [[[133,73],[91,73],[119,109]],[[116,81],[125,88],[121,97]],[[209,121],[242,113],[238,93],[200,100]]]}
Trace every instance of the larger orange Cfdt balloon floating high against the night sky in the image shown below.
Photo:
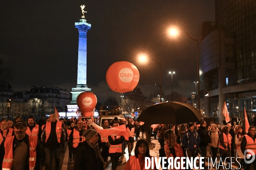
{"label": "larger orange Cfdt balloon floating high against the night sky", "polygon": [[113,63],[106,73],[106,81],[110,89],[121,93],[135,89],[139,78],[137,67],[127,61]]}

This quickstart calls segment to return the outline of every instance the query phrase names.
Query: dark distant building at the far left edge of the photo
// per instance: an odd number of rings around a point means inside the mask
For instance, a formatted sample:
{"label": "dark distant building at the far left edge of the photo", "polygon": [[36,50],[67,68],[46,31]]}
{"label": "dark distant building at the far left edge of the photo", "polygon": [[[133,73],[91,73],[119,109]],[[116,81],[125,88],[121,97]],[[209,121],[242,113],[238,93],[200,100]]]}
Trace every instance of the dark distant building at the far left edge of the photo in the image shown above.
{"label": "dark distant building at the far left edge of the photo", "polygon": [[[7,116],[6,100],[13,98],[13,88],[9,84],[0,84],[0,118]],[[12,112],[12,107],[11,107]]]}

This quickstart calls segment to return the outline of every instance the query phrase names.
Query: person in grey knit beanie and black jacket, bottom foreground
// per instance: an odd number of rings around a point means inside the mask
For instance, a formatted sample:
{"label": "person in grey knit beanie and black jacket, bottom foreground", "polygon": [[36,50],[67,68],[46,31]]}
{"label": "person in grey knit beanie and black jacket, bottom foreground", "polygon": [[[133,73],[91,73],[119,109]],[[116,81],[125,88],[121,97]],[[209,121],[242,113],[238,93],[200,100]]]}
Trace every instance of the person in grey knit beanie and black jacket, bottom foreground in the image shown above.
{"label": "person in grey knit beanie and black jacket, bottom foreground", "polygon": [[96,130],[85,130],[82,135],[86,138],[76,152],[74,170],[103,170],[103,158],[101,156]]}

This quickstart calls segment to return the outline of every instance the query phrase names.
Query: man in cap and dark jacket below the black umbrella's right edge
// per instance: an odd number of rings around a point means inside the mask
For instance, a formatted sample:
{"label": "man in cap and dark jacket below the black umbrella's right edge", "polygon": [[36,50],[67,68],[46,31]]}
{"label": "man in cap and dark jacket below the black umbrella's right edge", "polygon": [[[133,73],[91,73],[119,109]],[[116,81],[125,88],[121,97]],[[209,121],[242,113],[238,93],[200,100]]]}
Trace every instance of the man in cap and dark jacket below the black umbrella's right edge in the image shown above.
{"label": "man in cap and dark jacket below the black umbrella's right edge", "polygon": [[182,138],[182,145],[185,147],[189,158],[196,157],[196,150],[200,144],[200,136],[194,131],[194,124],[188,124],[188,130],[184,133]]}

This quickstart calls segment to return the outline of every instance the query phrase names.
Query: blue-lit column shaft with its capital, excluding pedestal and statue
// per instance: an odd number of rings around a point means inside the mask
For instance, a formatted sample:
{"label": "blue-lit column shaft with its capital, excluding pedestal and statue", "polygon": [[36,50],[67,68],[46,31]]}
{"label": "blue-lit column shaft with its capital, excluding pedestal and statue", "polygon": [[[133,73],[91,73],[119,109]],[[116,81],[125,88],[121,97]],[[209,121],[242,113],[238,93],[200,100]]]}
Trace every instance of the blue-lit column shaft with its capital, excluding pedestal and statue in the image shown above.
{"label": "blue-lit column shaft with its capital, excluding pedestal and statue", "polygon": [[91,29],[91,24],[86,23],[86,20],[81,19],[81,22],[75,23],[75,27],[79,32],[78,45],[78,66],[77,66],[77,85],[86,84],[87,70],[87,37],[88,29]]}

